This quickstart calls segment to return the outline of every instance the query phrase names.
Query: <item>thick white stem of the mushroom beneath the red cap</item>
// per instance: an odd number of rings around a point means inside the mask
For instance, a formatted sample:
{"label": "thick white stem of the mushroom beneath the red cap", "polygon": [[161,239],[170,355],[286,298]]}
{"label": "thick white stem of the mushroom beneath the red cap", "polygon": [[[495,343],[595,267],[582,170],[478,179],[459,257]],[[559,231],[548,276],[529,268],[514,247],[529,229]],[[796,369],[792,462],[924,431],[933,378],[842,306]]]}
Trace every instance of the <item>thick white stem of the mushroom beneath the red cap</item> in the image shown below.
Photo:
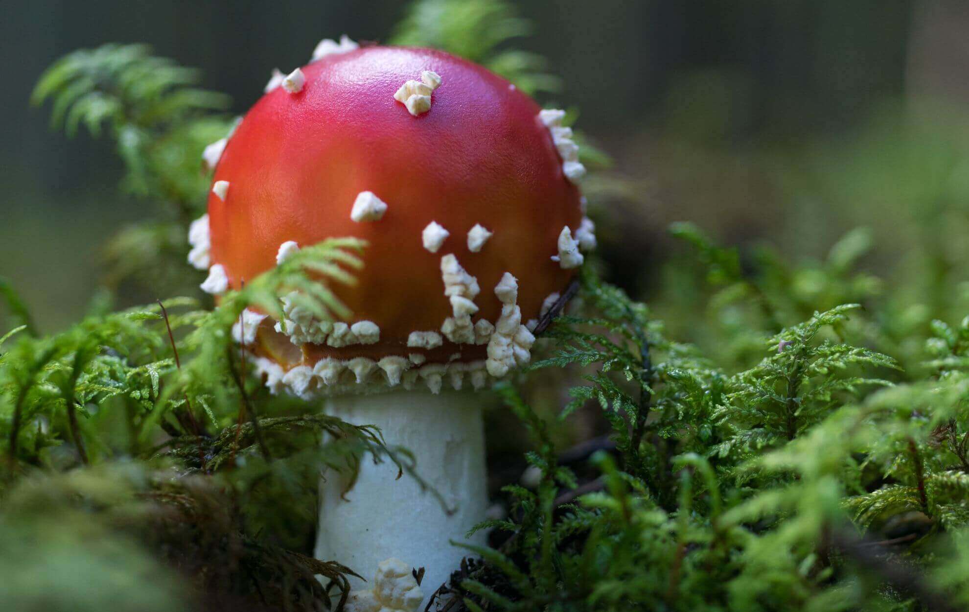
{"label": "thick white stem of the mushroom beneath the red cap", "polygon": [[[449,540],[483,544],[485,533],[465,533],[485,518],[485,393],[391,391],[330,398],[326,412],[356,425],[381,429],[387,443],[409,449],[418,474],[441,501],[385,461],[364,457],[354,488],[342,498],[345,477],[328,471],[320,485],[316,557],[348,565],[372,582],[377,564],[396,557],[424,567],[424,602],[471,555]],[[370,588],[351,578],[354,589]],[[423,606],[423,604],[422,604]],[[421,608],[423,609],[423,607]]]}

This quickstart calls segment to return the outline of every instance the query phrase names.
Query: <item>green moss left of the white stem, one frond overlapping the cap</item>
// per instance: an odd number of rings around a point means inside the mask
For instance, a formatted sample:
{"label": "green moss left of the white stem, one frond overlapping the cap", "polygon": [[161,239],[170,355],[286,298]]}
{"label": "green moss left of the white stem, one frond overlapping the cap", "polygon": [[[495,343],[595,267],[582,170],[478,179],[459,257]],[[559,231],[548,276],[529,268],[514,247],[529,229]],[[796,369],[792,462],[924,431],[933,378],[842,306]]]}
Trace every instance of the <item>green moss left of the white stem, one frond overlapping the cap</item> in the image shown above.
{"label": "green moss left of the white stem, one frond overlapping the cap", "polygon": [[[294,526],[313,524],[320,467],[352,475],[360,458],[367,454],[376,461],[395,463],[420,481],[413,459],[406,449],[388,447],[375,428],[301,414],[295,411],[304,410],[305,405],[269,396],[261,381],[245,377],[244,358],[234,348],[231,328],[246,306],[280,315],[278,296],[294,291],[300,292],[300,306],[317,316],[345,315],[346,307],[327,286],[328,282],[353,281],[348,271],[359,267],[354,252],[361,247],[356,240],[331,240],[301,249],[284,265],[225,296],[214,310],[200,310],[190,299],[175,299],[93,314],[52,337],[29,337],[23,333],[26,326],[5,336],[0,342],[5,349],[0,355],[0,452],[9,469],[0,479],[0,496],[6,500],[8,513],[0,516],[0,538],[23,535],[20,523],[26,519],[14,520],[10,513],[16,504],[11,503],[26,483],[40,474],[65,470],[78,474],[74,480],[45,481],[52,488],[51,495],[58,495],[62,486],[77,479],[85,486],[94,486],[101,478],[113,479],[117,474],[108,474],[106,467],[111,471],[137,460],[136,467],[131,467],[137,487],[117,487],[115,491],[114,485],[104,483],[116,498],[99,499],[104,492],[96,487],[93,491],[65,492],[57,506],[62,512],[52,513],[52,520],[60,522],[64,514],[79,516],[84,508],[92,507],[104,507],[111,516],[103,518],[99,511],[84,530],[75,533],[64,528],[62,537],[52,540],[33,563],[52,563],[50,556],[60,554],[57,547],[68,545],[64,538],[74,541],[70,538],[88,537],[88,531],[110,531],[117,520],[114,514],[123,510],[123,506],[115,506],[148,496],[165,507],[141,508],[137,516],[125,519],[135,521],[141,540],[160,538],[158,546],[186,558],[190,552],[180,547],[205,548],[203,541],[211,541],[202,569],[207,571],[208,564],[238,565],[225,575],[224,571],[218,575],[205,573],[198,588],[251,597],[281,590],[279,596],[304,609],[319,609],[328,601],[328,593],[314,574],[332,578],[341,592],[345,591],[343,576],[352,573],[349,568],[281,548],[301,544],[304,528],[294,530]],[[272,416],[261,416],[264,413]],[[214,428],[214,434],[209,433],[210,428]],[[321,445],[324,435],[329,441]],[[181,477],[203,475],[206,483],[173,489],[171,478],[149,477],[147,473],[168,466],[177,467]],[[218,503],[208,499],[208,489],[220,492]],[[278,504],[284,499],[290,505],[280,508]],[[180,513],[177,530],[149,529],[149,523],[156,520],[152,512],[172,512],[168,507],[171,504]],[[8,519],[10,523],[4,524]],[[72,519],[68,525],[76,522],[80,519]],[[207,533],[206,526],[213,522],[221,531]],[[209,535],[223,539],[209,540]],[[102,541],[100,536],[90,537]],[[238,545],[229,545],[225,538]],[[69,559],[93,564],[91,571],[102,567],[109,574],[117,573],[119,569],[105,557],[125,555],[134,545],[105,538],[103,552],[84,549]],[[132,554],[133,559],[142,556],[139,551]],[[14,559],[4,558],[0,563],[14,563]],[[143,564],[145,573],[167,575],[167,570],[157,568],[150,559]],[[35,570],[36,566],[27,565]],[[243,579],[242,574],[233,573],[243,569],[254,577]],[[142,570],[132,566],[132,571]],[[134,573],[128,579],[132,576]],[[170,582],[172,585],[164,589],[174,588],[173,578]],[[169,601],[163,583],[158,584],[154,596]],[[109,580],[94,581],[88,587],[91,606],[100,600],[98,589],[111,592],[118,588]],[[30,593],[18,591],[16,597]],[[172,591],[175,595],[186,596],[184,590]],[[14,600],[19,600],[16,597]]]}

